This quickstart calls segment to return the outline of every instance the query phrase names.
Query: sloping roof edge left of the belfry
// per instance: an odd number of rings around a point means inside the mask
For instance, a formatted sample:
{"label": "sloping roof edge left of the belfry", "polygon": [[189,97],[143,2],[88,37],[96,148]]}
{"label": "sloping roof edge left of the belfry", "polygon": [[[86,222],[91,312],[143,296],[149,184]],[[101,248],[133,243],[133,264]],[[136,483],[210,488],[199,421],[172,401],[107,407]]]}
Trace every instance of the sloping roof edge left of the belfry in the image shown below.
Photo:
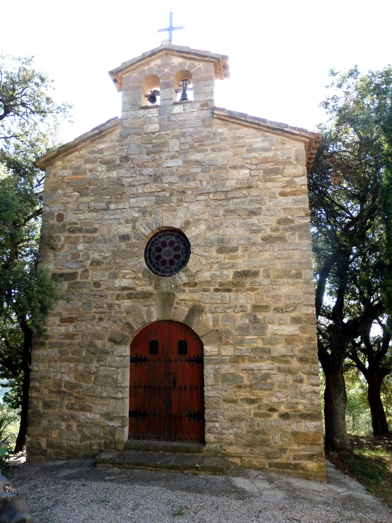
{"label": "sloping roof edge left of the belfry", "polygon": [[55,151],[52,151],[48,154],[45,154],[44,156],[41,156],[40,158],[37,158],[37,160],[34,161],[33,164],[39,169],[44,170],[62,156],[67,156],[68,154],[73,153],[86,143],[94,142],[99,138],[102,138],[107,134],[110,134],[116,127],[120,127],[120,118],[118,118],[117,116],[115,116],[114,118],[110,118],[106,122],[101,123],[99,126],[94,127],[90,131],[81,134],[80,136],[72,140],[72,142],[68,142],[64,145],[61,145],[61,147],[59,147]]}

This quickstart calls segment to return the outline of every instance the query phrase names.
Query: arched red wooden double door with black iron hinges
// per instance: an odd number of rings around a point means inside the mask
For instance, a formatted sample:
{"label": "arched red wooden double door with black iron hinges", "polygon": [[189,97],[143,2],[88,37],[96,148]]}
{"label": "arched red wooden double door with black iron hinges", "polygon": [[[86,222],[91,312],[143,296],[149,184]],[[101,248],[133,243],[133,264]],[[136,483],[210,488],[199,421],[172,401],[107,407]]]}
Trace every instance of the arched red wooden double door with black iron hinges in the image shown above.
{"label": "arched red wooden double door with black iron hinges", "polygon": [[183,323],[156,322],[132,340],[128,437],[205,442],[203,344]]}

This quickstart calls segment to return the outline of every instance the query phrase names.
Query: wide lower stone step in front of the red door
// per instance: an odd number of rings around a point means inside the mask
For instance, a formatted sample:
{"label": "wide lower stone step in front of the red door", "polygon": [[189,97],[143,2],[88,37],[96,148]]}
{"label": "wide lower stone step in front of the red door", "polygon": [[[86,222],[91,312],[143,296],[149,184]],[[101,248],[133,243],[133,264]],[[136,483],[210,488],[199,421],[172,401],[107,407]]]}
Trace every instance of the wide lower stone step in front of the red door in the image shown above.
{"label": "wide lower stone step in front of the red door", "polygon": [[227,458],[184,452],[105,450],[98,454],[94,461],[97,467],[223,475],[226,471]]}

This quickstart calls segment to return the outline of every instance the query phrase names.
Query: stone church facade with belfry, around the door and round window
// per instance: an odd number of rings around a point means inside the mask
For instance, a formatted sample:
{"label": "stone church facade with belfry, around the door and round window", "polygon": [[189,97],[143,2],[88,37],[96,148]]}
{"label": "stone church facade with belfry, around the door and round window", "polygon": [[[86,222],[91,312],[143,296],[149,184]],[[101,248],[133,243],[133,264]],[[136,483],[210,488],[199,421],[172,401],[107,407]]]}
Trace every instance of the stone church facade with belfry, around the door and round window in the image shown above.
{"label": "stone church facade with belfry, around the door and round window", "polygon": [[[68,299],[32,352],[28,459],[123,449],[130,343],[174,320],[203,345],[205,447],[325,481],[306,185],[320,135],[216,108],[224,55],[164,41],[109,74],[121,119],[36,162],[40,260]],[[193,99],[176,101],[185,79]],[[145,247],[166,230],[191,254],[162,277]]]}

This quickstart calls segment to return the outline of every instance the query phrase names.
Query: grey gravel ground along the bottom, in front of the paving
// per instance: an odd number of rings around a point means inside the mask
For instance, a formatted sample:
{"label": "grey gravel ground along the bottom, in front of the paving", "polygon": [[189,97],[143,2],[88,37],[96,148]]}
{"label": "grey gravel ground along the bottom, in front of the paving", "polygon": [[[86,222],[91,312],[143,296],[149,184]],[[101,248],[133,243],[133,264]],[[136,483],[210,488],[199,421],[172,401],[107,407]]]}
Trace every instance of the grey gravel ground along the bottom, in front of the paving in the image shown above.
{"label": "grey gravel ground along the bottom, in front of the paving", "polygon": [[308,506],[272,503],[261,496],[217,497],[109,481],[32,479],[24,474],[17,485],[34,523],[392,523],[387,510],[385,515],[361,515],[314,502]]}

